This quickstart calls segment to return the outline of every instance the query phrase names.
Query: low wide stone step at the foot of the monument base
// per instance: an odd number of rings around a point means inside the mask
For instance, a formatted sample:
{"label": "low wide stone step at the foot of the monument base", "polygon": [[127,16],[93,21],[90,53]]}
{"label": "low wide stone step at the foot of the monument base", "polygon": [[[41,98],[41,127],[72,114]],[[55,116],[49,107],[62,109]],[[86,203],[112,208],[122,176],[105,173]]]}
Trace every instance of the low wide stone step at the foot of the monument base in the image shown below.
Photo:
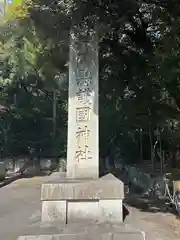
{"label": "low wide stone step at the foot of the monument base", "polygon": [[145,240],[143,232],[125,224],[71,224],[66,226],[34,225],[25,229],[18,240]]}

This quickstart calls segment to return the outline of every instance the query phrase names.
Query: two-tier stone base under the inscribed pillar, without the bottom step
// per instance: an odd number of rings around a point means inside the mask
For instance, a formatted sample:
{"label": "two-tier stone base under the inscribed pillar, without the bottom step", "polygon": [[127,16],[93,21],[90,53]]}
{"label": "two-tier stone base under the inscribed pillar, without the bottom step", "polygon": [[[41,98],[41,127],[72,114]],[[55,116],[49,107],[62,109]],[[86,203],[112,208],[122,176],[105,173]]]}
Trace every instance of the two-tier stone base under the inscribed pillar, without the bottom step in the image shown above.
{"label": "two-tier stone base under the inscribed pillar, without the bottom step", "polygon": [[54,173],[42,184],[42,223],[123,221],[124,185],[112,174],[96,180]]}

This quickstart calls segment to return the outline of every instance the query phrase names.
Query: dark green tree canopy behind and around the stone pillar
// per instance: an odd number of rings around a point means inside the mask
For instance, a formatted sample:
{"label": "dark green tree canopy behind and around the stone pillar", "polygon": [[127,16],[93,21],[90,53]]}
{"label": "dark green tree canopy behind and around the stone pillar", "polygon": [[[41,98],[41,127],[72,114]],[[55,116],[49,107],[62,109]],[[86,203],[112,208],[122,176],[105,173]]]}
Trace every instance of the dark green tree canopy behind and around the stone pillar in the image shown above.
{"label": "dark green tree canopy behind and around the stone pillar", "polygon": [[173,152],[180,140],[179,13],[177,0],[11,3],[0,25],[2,154],[66,153],[73,25],[98,26],[100,155],[138,161],[143,142],[150,158],[157,129],[163,149]]}

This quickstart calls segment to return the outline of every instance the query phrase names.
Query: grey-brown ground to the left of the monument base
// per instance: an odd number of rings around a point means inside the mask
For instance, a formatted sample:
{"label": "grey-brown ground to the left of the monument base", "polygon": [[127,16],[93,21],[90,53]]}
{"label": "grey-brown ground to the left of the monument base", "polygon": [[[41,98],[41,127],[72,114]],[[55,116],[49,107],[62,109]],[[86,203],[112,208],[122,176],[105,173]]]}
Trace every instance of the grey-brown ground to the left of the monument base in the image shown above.
{"label": "grey-brown ground to the left of the monument base", "polygon": [[0,239],[16,240],[22,230],[40,214],[43,177],[21,179],[0,188]]}

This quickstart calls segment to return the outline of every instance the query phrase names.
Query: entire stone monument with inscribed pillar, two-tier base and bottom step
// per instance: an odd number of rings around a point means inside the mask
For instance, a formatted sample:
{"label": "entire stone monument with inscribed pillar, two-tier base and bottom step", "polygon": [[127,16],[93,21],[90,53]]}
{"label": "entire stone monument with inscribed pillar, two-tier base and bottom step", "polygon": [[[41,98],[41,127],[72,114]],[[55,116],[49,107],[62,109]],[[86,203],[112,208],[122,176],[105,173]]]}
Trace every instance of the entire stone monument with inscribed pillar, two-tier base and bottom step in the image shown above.
{"label": "entire stone monument with inscribed pillar, two-tier base and bottom step", "polygon": [[[41,188],[41,222],[53,226],[56,232],[52,234],[51,229],[46,229],[48,234],[42,230],[41,234],[23,236],[19,240],[35,240],[37,237],[39,240],[76,237],[144,239],[139,231],[127,230],[121,224],[123,183],[112,174],[99,178],[98,121],[97,36],[94,32],[73,31],[69,63],[67,172],[52,174]],[[76,227],[71,229],[74,223]]]}

